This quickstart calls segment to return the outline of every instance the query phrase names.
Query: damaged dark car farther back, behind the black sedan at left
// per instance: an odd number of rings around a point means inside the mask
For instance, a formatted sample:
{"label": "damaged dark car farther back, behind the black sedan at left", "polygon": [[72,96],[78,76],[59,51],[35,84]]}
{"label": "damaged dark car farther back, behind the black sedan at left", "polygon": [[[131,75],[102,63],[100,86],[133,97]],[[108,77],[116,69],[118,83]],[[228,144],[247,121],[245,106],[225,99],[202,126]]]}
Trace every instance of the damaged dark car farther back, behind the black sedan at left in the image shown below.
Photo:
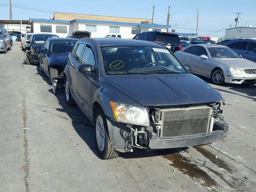
{"label": "damaged dark car farther back, behind the black sedan at left", "polygon": [[24,54],[23,60],[27,64],[39,64],[38,55],[48,38],[58,38],[58,35],[54,34],[33,34],[29,41],[26,41],[28,46],[25,48],[26,53]]}

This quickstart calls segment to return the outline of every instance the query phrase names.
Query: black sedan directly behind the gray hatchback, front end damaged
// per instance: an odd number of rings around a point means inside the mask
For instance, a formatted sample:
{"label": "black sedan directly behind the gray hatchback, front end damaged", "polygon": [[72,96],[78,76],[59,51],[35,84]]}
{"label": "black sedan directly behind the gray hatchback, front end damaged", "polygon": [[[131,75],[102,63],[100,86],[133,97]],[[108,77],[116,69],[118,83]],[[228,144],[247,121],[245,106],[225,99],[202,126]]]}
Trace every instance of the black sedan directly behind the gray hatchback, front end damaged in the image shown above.
{"label": "black sedan directly behind the gray hatchback, front end damaged", "polygon": [[39,54],[40,72],[48,76],[54,93],[63,87],[63,71],[68,63],[68,54],[77,41],[74,38],[49,38],[42,46]]}

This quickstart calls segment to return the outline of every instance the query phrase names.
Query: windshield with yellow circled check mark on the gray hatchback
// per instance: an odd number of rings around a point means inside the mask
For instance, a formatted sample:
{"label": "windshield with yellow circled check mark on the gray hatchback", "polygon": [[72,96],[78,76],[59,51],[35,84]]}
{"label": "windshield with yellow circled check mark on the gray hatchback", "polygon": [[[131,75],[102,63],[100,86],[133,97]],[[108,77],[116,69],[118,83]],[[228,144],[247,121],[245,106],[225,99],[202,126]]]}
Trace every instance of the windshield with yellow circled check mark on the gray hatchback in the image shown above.
{"label": "windshield with yellow circled check mark on the gray hatchback", "polygon": [[166,48],[149,46],[103,46],[106,74],[187,73]]}

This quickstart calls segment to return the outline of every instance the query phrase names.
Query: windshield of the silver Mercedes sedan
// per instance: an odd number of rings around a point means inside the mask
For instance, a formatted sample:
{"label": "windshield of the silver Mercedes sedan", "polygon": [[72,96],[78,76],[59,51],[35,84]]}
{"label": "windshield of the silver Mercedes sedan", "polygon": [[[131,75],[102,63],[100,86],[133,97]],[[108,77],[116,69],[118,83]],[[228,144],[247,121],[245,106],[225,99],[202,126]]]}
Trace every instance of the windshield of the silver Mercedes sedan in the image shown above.
{"label": "windshield of the silver Mercedes sedan", "polygon": [[236,52],[226,47],[207,48],[212,58],[240,58]]}

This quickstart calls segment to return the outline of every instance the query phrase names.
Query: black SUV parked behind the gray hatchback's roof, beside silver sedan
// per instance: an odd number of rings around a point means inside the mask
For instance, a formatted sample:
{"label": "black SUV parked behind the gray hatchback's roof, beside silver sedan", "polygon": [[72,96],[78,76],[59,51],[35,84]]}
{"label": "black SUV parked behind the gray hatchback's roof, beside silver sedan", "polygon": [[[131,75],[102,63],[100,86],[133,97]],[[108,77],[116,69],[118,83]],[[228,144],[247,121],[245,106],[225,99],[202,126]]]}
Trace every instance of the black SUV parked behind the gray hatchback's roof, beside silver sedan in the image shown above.
{"label": "black SUV parked behind the gray hatchback's roof, beside silver sedan", "polygon": [[179,36],[172,33],[148,31],[137,34],[133,39],[157,42],[166,46],[166,48],[172,50],[172,52],[181,50]]}

